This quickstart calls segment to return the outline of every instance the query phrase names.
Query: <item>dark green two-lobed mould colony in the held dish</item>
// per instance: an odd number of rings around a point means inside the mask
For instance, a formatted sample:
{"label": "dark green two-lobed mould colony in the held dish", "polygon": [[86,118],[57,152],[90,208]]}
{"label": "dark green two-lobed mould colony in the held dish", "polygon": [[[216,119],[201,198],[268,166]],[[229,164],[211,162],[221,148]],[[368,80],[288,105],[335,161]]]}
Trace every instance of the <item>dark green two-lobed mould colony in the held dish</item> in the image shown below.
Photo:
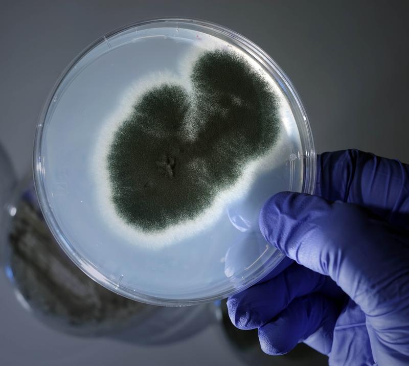
{"label": "dark green two-lobed mould colony in the held dish", "polygon": [[197,217],[278,139],[277,97],[243,57],[203,53],[193,93],[152,87],[115,132],[107,155],[111,199],[144,232]]}

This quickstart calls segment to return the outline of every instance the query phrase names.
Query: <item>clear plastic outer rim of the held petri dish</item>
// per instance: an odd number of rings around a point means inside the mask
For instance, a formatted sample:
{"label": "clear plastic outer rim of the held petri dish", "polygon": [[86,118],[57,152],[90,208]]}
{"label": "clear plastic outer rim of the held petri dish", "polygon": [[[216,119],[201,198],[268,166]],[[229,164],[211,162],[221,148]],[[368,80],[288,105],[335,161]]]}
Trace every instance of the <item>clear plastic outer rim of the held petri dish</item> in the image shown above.
{"label": "clear plastic outer rim of the held petri dish", "polygon": [[[162,305],[162,306],[188,306],[194,305],[203,302],[210,302],[214,300],[220,300],[230,296],[234,293],[240,292],[245,288],[248,288],[258,282],[261,278],[263,278],[267,273],[269,273],[273,268],[275,268],[281,260],[284,258],[284,255],[276,251],[270,258],[266,260],[263,266],[259,267],[255,272],[253,272],[248,278],[246,279],[245,283],[242,283],[239,287],[231,286],[230,290],[228,291],[219,291],[212,296],[193,296],[191,299],[172,299],[172,298],[162,298],[161,296],[153,296],[150,294],[144,294],[141,292],[137,292],[131,288],[125,287],[118,282],[111,280],[110,278],[106,277],[102,274],[94,264],[81,256],[78,251],[75,249],[73,244],[65,237],[64,232],[60,225],[58,224],[54,214],[51,210],[47,192],[44,185],[44,179],[46,179],[46,171],[44,170],[44,160],[46,157],[42,155],[42,137],[44,132],[44,122],[46,121],[46,117],[50,111],[50,107],[52,105],[52,101],[54,95],[58,88],[63,83],[65,77],[73,70],[76,64],[83,59],[85,55],[87,55],[90,51],[96,48],[99,44],[103,42],[107,42],[109,45],[109,39],[112,37],[127,31],[129,29],[143,26],[150,26],[152,27],[157,26],[158,24],[163,23],[165,26],[170,27],[174,26],[176,29],[183,28],[184,25],[189,25],[190,27],[197,27],[201,29],[207,29],[211,32],[214,32],[218,35],[223,35],[225,39],[232,41],[233,43],[239,45],[243,48],[246,52],[252,55],[255,59],[262,63],[262,65],[266,68],[267,72],[271,73],[274,71],[276,74],[279,75],[281,78],[281,82],[283,85],[283,89],[287,92],[287,98],[289,98],[289,103],[294,111],[299,114],[299,118],[296,118],[297,127],[300,134],[301,146],[302,146],[302,153],[298,155],[294,155],[290,159],[290,164],[293,164],[296,161],[303,162],[303,182],[302,182],[302,192],[312,194],[315,188],[315,175],[316,175],[316,153],[314,148],[314,142],[312,138],[311,127],[307,118],[307,114],[305,112],[305,108],[301,102],[301,98],[299,97],[296,89],[293,87],[291,81],[286,76],[286,74],[281,70],[280,66],[271,59],[271,57],[265,53],[258,45],[256,45],[251,40],[247,39],[246,37],[240,35],[239,33],[215,24],[210,21],[201,20],[201,19],[193,19],[193,18],[154,18],[143,20],[139,22],[133,22],[128,24],[124,27],[118,28],[111,32],[108,32],[104,36],[98,38],[94,42],[88,45],[82,52],[78,54],[77,57],[71,61],[69,65],[63,70],[60,74],[58,80],[56,81],[54,87],[52,88],[46,102],[43,105],[43,108],[40,112],[38,124],[35,132],[34,138],[34,152],[33,152],[33,176],[34,176],[34,185],[35,190],[37,193],[38,201],[40,204],[40,208],[44,219],[46,220],[50,231],[54,235],[56,241],[64,250],[67,256],[85,273],[87,276],[98,282],[100,285],[106,287],[107,289],[116,292],[120,295],[123,295],[129,299],[133,299],[136,301],[141,301],[147,304],[152,305]],[[110,45],[109,45],[110,49]],[[98,57],[100,57],[99,55]],[[86,65],[85,65],[86,67]],[[78,76],[78,74],[76,75]],[[76,77],[75,76],[75,77]],[[300,118],[301,117],[301,118]],[[235,279],[239,279],[242,273],[239,272],[235,274],[234,278],[231,278],[231,282]]]}

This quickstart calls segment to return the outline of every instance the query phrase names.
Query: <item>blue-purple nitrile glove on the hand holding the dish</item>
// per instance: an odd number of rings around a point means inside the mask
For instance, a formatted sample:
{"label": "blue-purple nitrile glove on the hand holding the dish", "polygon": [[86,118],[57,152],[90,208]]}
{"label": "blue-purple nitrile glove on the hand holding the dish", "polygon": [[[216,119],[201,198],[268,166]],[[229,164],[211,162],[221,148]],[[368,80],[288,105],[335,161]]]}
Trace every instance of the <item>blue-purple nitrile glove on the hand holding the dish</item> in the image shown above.
{"label": "blue-purple nitrile glove on the hand holding the dish", "polygon": [[332,365],[409,365],[409,166],[357,150],[317,163],[315,196],[279,193],[260,214],[297,263],[232,296],[230,318],[271,355],[303,341]]}

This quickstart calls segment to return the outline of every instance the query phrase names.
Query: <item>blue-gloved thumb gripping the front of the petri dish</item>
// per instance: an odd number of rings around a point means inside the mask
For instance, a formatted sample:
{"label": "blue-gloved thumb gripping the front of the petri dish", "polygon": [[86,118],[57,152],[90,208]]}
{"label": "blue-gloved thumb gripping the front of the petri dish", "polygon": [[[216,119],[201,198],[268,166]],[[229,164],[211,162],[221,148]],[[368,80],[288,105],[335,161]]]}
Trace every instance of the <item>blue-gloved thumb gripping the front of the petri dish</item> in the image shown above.
{"label": "blue-gloved thumb gripping the front of the petri dish", "polygon": [[408,233],[364,209],[283,192],[264,205],[260,229],[286,256],[330,276],[367,314],[386,311],[385,299],[399,300],[404,284],[390,282],[409,270]]}

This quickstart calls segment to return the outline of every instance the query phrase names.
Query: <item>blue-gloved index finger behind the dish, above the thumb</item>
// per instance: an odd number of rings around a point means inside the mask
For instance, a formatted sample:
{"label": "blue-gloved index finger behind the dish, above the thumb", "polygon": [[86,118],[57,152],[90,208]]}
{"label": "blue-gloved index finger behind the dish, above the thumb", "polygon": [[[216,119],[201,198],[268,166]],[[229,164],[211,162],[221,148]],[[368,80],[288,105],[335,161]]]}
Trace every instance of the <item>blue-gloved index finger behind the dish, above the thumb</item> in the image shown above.
{"label": "blue-gloved index finger behind the dish, above the thumb", "polygon": [[[390,223],[409,228],[409,166],[359,150],[317,156],[314,194],[330,201],[359,204]],[[260,282],[277,276],[292,263],[285,258]]]}

